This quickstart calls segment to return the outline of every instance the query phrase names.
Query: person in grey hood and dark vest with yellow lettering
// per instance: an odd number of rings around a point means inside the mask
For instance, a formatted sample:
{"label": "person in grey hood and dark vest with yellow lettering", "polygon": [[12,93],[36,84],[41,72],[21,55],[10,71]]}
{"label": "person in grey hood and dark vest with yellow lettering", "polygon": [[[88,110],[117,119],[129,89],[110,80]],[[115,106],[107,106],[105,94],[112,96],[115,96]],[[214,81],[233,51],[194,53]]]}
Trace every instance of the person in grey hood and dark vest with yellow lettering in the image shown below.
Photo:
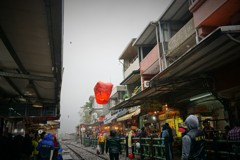
{"label": "person in grey hood and dark vest with yellow lettering", "polygon": [[198,128],[198,118],[194,115],[189,115],[185,120],[185,124],[187,133],[182,138],[181,160],[205,160],[205,134]]}

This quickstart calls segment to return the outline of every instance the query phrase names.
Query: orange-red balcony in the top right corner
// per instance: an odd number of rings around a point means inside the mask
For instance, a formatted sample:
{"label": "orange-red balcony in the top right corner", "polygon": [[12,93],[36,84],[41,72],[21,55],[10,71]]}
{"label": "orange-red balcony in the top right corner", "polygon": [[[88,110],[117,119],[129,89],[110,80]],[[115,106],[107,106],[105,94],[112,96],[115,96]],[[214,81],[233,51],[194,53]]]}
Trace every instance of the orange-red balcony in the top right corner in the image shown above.
{"label": "orange-red balcony in the top right corner", "polygon": [[191,0],[189,2],[195,28],[198,29],[198,35],[201,37],[207,36],[219,26],[234,25],[239,22],[239,0]]}

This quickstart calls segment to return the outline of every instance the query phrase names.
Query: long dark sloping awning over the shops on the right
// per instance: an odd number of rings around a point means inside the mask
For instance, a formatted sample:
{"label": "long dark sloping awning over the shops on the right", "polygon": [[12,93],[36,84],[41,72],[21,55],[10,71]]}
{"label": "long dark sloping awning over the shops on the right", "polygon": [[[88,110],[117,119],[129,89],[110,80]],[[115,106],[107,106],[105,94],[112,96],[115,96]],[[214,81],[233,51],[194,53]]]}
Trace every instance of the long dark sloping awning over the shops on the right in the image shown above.
{"label": "long dark sloping awning over the shops on the right", "polygon": [[111,110],[152,103],[156,100],[163,102],[177,94],[187,97],[206,91],[199,82],[208,80],[207,72],[240,58],[239,41],[239,25],[217,28],[198,45],[156,75],[150,81],[149,88],[117,104]]}

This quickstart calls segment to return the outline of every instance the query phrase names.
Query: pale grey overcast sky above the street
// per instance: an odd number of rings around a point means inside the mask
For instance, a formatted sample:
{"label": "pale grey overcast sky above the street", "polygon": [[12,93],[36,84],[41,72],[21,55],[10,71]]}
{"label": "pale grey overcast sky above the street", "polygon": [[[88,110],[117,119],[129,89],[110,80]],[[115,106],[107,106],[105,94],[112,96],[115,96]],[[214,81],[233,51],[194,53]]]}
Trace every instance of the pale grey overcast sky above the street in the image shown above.
{"label": "pale grey overcast sky above the street", "polygon": [[170,0],[64,0],[61,133],[75,132],[98,81],[123,80],[118,58]]}

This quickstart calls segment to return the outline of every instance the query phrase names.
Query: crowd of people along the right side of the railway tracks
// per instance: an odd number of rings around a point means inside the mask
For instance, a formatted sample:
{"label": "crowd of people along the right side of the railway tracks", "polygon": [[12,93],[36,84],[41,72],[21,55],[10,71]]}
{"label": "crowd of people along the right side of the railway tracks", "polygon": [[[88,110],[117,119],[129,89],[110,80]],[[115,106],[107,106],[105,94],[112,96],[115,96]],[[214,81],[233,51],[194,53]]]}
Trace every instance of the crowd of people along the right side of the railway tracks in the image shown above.
{"label": "crowd of people along the right side of the railway tracks", "polygon": [[[214,139],[217,136],[217,131],[210,125],[209,120],[204,120],[202,122],[202,127],[200,126],[200,121],[197,116],[189,115],[185,122],[185,127],[179,128],[182,132],[181,138],[181,160],[187,159],[207,159],[206,153],[206,139]],[[110,160],[118,159],[119,154],[121,153],[120,138],[128,137],[127,143],[128,147],[132,145],[133,137],[158,137],[168,139],[168,141],[163,141],[168,143],[168,159],[174,159],[173,154],[173,143],[174,143],[174,133],[173,129],[169,126],[168,123],[162,125],[161,133],[149,132],[146,131],[145,127],[136,130],[129,130],[127,133],[123,134],[122,132],[116,132],[114,130],[110,131],[110,135],[106,136],[100,134],[98,136],[98,144],[101,148],[100,154],[109,153]],[[225,127],[225,134],[223,139],[226,140],[240,140],[240,121],[235,122],[235,127],[230,128],[229,126]],[[104,148],[106,147],[106,148]],[[235,147],[236,148],[236,147]],[[240,151],[239,148],[237,151]]]}

